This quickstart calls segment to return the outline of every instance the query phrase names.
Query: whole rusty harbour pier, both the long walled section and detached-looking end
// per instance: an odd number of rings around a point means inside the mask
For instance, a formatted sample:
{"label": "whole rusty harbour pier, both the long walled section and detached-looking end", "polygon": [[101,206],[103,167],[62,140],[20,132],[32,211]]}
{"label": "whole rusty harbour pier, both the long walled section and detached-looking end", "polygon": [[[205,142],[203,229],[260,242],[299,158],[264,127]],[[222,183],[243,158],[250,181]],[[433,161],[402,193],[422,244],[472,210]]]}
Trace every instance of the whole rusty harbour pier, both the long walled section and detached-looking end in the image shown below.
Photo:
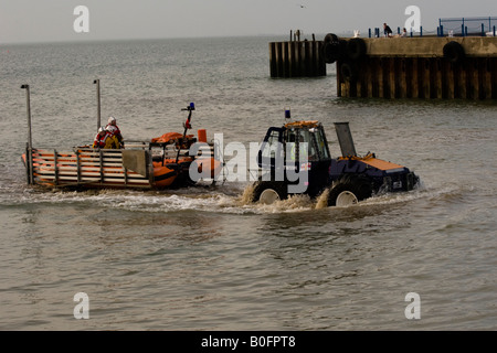
{"label": "whole rusty harbour pier, both the long walled section and detached-looking end", "polygon": [[408,36],[269,43],[272,77],[326,75],[337,96],[497,99],[497,36]]}

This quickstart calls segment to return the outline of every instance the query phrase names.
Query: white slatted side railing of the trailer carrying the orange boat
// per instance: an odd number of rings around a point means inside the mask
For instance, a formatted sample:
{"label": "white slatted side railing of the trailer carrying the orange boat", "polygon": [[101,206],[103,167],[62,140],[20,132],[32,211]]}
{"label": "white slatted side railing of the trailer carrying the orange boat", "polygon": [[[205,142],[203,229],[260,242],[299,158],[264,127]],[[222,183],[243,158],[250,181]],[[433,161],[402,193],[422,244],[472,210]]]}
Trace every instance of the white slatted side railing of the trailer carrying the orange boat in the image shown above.
{"label": "white slatted side railing of the trailer carrying the orange boat", "polygon": [[[180,149],[180,157],[189,150]],[[74,148],[72,151],[29,149],[25,153],[30,184],[51,188],[154,189],[154,161],[175,160],[178,149],[170,143],[130,142],[126,149]],[[31,158],[30,158],[31,156]],[[211,158],[213,145],[193,158]],[[31,181],[31,182],[30,182]]]}

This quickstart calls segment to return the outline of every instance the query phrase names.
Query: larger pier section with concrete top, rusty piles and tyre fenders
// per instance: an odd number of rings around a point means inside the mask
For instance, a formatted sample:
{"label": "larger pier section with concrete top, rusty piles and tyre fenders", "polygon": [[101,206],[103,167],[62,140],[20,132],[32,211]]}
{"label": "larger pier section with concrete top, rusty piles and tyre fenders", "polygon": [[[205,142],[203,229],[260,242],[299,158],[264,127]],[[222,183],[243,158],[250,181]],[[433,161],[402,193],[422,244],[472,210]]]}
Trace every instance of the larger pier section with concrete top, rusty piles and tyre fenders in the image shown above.
{"label": "larger pier section with concrete top, rusty piles and tyre fenders", "polygon": [[349,39],[339,97],[497,99],[497,38]]}

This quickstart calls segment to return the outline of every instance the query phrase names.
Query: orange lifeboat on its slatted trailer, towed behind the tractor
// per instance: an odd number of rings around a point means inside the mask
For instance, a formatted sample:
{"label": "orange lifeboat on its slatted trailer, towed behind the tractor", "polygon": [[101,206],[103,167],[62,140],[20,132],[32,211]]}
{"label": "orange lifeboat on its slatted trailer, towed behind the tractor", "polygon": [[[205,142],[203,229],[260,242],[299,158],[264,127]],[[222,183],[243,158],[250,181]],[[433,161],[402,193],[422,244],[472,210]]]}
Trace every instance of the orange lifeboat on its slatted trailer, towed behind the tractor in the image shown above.
{"label": "orange lifeboat on its slatted trailer, towed behind the tractor", "polygon": [[[223,164],[213,157],[205,130],[198,138],[187,135],[191,113],[183,133],[167,132],[149,141],[126,142],[126,149],[93,149],[80,146],[71,151],[28,147],[22,154],[28,183],[49,188],[77,189],[168,189],[195,184],[220,173]],[[190,156],[197,141],[202,142],[198,156]],[[29,145],[30,146],[30,145]]]}

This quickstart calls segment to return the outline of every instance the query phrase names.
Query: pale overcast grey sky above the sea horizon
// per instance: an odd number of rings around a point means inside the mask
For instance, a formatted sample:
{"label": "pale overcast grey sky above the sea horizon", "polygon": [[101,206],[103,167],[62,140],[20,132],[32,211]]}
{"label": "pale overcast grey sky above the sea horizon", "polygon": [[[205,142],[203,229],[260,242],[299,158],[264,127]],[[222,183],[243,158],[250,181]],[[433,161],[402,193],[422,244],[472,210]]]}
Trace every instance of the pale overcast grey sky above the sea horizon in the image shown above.
{"label": "pale overcast grey sky above the sea horizon", "polygon": [[[74,9],[89,11],[76,33]],[[497,17],[497,0],[0,0],[0,43],[342,33],[403,26],[417,6],[425,31],[440,18]]]}

